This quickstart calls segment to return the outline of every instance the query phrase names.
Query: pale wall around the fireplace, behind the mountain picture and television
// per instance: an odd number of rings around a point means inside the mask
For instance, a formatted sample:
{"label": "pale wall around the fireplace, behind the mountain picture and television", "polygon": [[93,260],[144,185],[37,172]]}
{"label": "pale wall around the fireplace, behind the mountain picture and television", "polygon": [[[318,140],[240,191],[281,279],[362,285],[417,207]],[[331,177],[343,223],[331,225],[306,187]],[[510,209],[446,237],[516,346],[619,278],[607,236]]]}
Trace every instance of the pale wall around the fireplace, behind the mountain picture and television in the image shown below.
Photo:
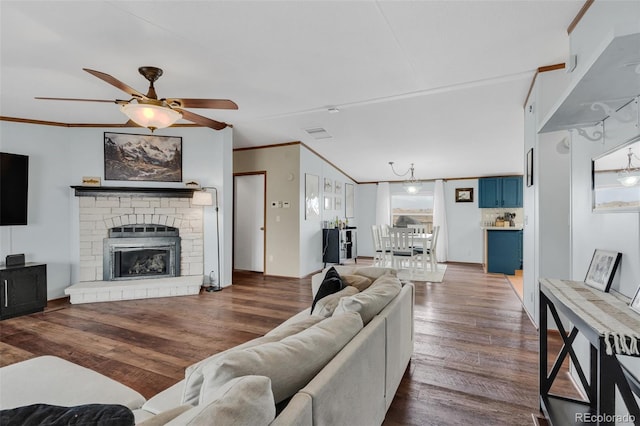
{"label": "pale wall around the fireplace, behind the mountain picture and television", "polygon": [[[104,186],[182,187],[181,183],[104,181],[103,134],[145,133],[142,129],[94,129],[40,126],[0,121],[0,150],[29,155],[29,224],[0,228],[0,259],[25,253],[26,260],[47,264],[47,297],[64,296],[78,277],[78,200],[72,185],[83,176],[101,176]],[[222,283],[231,283],[230,171],[231,129],[175,128],[158,131],[182,136],[183,179],[216,186],[221,196]],[[228,190],[226,190],[228,188]],[[205,208],[205,271],[216,269],[215,216]]]}

